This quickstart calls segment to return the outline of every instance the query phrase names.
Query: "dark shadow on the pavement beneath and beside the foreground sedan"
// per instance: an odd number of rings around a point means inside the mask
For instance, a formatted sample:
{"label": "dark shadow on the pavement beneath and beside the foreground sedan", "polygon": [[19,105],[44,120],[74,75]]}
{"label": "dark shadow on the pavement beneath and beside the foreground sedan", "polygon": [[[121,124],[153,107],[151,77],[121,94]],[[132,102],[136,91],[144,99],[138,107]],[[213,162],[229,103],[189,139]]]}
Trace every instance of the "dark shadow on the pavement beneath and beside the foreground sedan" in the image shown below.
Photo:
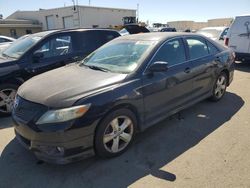
{"label": "dark shadow on the pavement beneath and beside the foreground sedan", "polygon": [[109,160],[91,158],[65,166],[38,163],[14,139],[0,157],[0,187],[118,188],[150,174],[175,181],[173,172],[160,168],[223,126],[243,105],[233,93],[218,103],[201,102],[138,134],[126,153]]}

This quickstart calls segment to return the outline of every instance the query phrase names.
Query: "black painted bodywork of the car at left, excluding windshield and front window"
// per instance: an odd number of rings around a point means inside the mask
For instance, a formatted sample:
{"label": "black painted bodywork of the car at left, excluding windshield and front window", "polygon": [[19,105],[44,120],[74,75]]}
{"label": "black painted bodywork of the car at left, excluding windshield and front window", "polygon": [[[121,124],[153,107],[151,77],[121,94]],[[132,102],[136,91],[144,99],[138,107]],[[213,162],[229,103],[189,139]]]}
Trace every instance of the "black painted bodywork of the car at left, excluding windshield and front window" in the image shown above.
{"label": "black painted bodywork of the car at left, excluding windshield and front window", "polygon": [[[100,38],[91,37],[93,34],[100,36]],[[108,29],[76,29],[49,32],[18,59],[0,56],[0,84],[12,83],[21,85],[25,80],[35,75],[81,60],[98,47],[108,42],[108,40],[105,41],[102,39],[102,36],[105,37],[108,34],[112,34],[114,38],[120,36],[117,31]],[[64,35],[71,36],[72,53],[46,58],[46,60],[41,60],[41,62],[34,62],[33,53],[37,49],[51,38]],[[91,46],[90,48],[80,47],[79,39],[81,40],[85,35],[88,35],[88,37],[85,37],[86,39],[92,38],[91,43],[86,44],[87,47]]]}

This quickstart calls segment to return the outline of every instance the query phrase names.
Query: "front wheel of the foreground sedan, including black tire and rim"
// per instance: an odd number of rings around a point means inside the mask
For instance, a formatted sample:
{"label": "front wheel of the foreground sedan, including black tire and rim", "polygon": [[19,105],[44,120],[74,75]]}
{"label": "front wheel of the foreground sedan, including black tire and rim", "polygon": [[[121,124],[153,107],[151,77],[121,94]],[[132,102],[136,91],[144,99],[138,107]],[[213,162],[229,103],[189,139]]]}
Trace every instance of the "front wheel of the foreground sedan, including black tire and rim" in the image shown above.
{"label": "front wheel of the foreground sedan, including black tire and rim", "polygon": [[128,109],[119,109],[108,114],[96,130],[97,155],[109,158],[125,152],[134,138],[136,126],[136,117]]}

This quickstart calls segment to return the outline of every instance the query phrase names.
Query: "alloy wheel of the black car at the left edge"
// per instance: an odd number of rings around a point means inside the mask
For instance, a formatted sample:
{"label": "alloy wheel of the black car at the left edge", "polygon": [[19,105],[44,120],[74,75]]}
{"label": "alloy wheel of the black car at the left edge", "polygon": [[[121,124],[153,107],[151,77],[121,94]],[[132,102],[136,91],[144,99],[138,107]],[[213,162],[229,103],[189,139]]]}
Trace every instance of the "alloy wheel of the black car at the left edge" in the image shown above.
{"label": "alloy wheel of the black car at the left edge", "polygon": [[0,112],[11,113],[16,92],[15,89],[3,89],[0,91]]}

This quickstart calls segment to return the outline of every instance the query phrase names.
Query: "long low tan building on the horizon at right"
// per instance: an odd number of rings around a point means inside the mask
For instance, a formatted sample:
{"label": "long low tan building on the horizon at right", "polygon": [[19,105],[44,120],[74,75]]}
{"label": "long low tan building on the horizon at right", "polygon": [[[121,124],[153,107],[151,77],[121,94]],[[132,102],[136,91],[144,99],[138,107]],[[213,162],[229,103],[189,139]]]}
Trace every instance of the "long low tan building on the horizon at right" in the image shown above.
{"label": "long low tan building on the horizon at right", "polygon": [[171,21],[168,22],[169,27],[175,27],[177,30],[184,31],[186,29],[199,30],[204,27],[218,27],[229,26],[233,18],[218,18],[211,19],[207,22],[194,22],[194,21]]}

